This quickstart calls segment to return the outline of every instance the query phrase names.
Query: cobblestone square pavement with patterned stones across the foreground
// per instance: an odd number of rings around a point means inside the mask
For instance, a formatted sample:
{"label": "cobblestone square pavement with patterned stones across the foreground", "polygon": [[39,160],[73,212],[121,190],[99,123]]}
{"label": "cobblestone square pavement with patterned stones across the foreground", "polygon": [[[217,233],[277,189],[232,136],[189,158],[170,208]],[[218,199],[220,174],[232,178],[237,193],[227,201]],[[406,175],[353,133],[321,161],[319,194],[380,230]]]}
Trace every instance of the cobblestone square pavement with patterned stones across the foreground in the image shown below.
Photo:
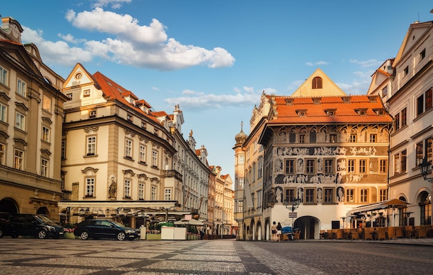
{"label": "cobblestone square pavement with patterned stones across the foreground", "polygon": [[0,274],[432,274],[433,239],[0,239]]}

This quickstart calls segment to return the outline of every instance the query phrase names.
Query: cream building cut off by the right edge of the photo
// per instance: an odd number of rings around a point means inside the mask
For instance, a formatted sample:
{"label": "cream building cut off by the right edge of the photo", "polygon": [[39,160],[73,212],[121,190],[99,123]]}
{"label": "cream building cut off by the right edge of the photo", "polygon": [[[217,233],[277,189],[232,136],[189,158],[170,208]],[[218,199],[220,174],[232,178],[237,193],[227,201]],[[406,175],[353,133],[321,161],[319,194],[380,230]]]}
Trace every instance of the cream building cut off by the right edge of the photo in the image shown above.
{"label": "cream building cut off by the right edge of the photo", "polygon": [[[396,211],[395,224],[432,224],[433,186],[419,170],[423,159],[432,163],[432,21],[416,21],[409,26],[391,65],[394,73],[387,79],[391,89],[386,97],[394,118],[389,145],[389,197],[409,203]],[[432,178],[431,166],[429,174]]]}

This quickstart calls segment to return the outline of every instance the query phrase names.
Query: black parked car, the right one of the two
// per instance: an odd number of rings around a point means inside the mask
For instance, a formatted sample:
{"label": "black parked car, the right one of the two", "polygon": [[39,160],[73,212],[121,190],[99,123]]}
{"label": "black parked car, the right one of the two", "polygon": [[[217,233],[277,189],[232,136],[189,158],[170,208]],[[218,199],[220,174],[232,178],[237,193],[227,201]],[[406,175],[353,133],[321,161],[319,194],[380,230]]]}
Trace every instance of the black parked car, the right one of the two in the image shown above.
{"label": "black parked car, the right one of the two", "polygon": [[82,240],[89,238],[115,238],[118,240],[133,240],[138,238],[138,231],[124,227],[112,220],[84,220],[75,226],[74,235]]}

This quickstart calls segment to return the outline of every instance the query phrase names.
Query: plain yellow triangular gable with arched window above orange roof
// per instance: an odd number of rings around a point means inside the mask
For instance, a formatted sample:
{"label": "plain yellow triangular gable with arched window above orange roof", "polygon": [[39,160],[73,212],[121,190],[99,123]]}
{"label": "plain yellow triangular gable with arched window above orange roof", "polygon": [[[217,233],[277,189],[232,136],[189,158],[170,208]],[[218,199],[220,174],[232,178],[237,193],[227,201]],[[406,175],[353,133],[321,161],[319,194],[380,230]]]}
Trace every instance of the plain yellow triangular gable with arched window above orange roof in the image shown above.
{"label": "plain yellow triangular gable with arched window above orange roof", "polygon": [[321,69],[316,69],[309,78],[292,94],[292,96],[322,97],[346,96]]}

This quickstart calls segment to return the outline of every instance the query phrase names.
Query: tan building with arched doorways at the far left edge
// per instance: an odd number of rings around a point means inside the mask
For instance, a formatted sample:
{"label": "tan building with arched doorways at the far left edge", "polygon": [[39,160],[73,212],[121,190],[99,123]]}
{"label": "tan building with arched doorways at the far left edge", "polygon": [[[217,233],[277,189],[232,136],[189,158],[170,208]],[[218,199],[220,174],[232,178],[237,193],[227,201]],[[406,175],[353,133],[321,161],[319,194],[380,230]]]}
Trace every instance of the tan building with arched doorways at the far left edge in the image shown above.
{"label": "tan building with arched doorways at the far left edge", "polygon": [[38,213],[58,221],[63,79],[34,44],[21,44],[12,17],[0,28],[0,212]]}

